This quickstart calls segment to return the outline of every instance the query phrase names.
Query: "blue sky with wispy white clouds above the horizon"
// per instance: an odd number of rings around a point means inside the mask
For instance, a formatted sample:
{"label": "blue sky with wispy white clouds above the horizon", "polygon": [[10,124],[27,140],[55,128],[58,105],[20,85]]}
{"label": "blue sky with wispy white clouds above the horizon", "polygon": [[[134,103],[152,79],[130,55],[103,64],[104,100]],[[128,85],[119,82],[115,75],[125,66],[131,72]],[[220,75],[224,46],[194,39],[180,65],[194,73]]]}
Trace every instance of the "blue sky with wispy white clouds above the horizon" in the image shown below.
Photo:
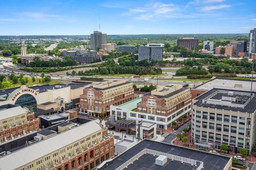
{"label": "blue sky with wispy white clouds above the horizon", "polygon": [[247,33],[255,0],[0,0],[0,35]]}

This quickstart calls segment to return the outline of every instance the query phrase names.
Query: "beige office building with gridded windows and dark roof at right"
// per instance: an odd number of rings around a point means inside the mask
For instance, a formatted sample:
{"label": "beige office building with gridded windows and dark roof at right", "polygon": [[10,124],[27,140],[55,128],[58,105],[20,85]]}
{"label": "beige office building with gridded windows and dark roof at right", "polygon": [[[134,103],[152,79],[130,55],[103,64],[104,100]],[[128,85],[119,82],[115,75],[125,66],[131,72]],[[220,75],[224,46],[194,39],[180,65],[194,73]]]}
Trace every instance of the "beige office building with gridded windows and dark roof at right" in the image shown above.
{"label": "beige office building with gridded windows and dark roof at right", "polygon": [[[192,139],[195,145],[229,151],[255,145],[256,92],[213,88],[193,99]],[[251,96],[251,97],[250,97]]]}

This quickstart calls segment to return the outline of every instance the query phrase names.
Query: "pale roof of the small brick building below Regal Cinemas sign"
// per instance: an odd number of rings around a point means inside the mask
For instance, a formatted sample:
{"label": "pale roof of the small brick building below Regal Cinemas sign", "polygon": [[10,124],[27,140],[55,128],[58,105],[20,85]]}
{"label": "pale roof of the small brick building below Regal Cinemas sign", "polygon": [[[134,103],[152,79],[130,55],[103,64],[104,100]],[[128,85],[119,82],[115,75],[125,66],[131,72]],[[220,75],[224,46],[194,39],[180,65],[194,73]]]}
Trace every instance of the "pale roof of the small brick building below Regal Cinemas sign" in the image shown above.
{"label": "pale roof of the small brick building below Regal Cinemas sign", "polygon": [[6,108],[6,109],[3,108],[0,110],[0,120],[18,116],[18,115],[24,114],[26,112],[27,112],[27,109],[22,108],[20,106]]}

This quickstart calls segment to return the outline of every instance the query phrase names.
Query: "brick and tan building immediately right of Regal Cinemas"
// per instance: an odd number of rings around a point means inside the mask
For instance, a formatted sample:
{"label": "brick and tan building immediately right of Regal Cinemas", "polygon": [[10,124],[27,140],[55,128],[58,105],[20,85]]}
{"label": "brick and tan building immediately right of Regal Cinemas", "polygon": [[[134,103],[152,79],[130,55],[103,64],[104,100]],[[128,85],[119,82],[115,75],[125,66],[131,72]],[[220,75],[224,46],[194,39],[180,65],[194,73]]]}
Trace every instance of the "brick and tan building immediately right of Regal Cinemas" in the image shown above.
{"label": "brick and tan building immediately right of Regal Cinemas", "polygon": [[125,80],[105,81],[85,88],[80,96],[80,111],[92,116],[109,115],[110,105],[120,105],[134,98],[131,82]]}

